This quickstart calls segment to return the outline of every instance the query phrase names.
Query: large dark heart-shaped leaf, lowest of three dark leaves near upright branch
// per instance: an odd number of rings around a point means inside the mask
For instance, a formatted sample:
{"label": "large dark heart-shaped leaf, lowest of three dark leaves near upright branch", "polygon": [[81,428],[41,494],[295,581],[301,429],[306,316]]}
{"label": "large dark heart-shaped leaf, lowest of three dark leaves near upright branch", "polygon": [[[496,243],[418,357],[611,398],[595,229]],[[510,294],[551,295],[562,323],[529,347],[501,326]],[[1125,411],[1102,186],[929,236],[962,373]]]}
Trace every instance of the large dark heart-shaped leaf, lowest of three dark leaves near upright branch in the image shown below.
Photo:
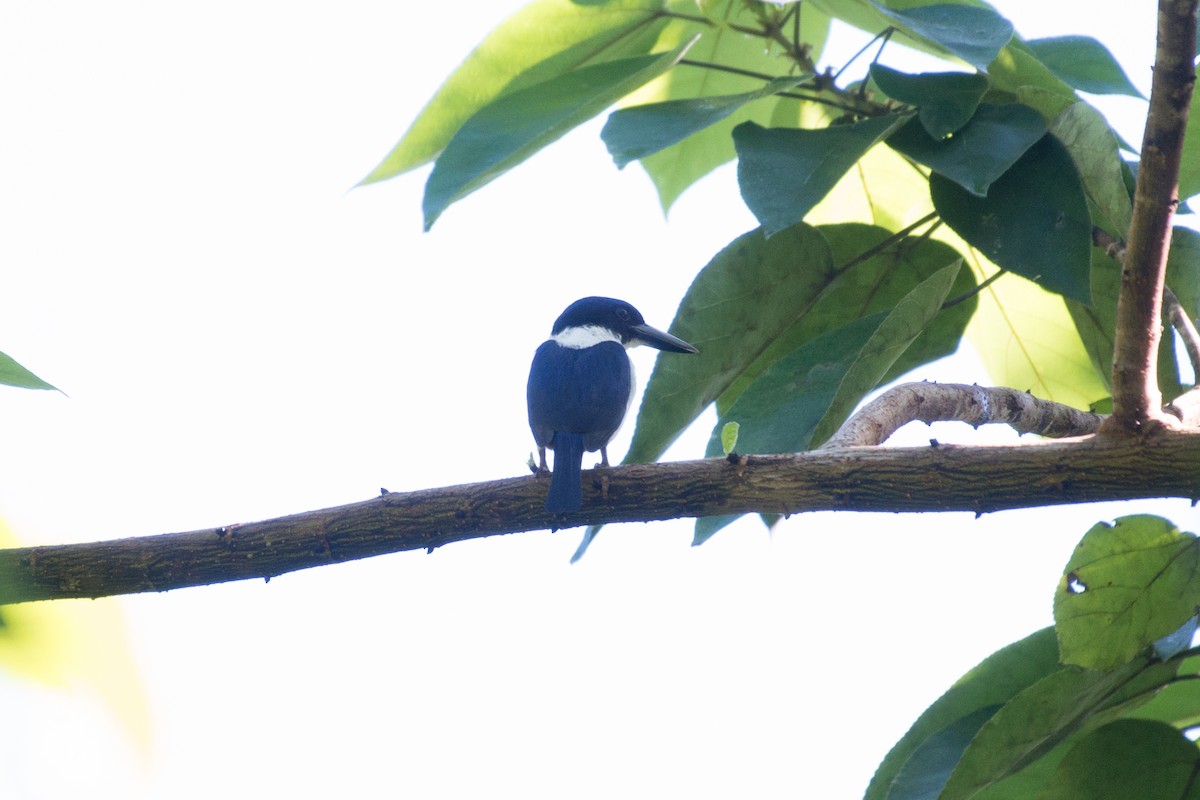
{"label": "large dark heart-shaped leaf, lowest of three dark leaves near upright branch", "polygon": [[1043,137],[985,198],[937,174],[929,190],[942,219],[990,260],[1091,302],[1091,216],[1075,164],[1057,139]]}

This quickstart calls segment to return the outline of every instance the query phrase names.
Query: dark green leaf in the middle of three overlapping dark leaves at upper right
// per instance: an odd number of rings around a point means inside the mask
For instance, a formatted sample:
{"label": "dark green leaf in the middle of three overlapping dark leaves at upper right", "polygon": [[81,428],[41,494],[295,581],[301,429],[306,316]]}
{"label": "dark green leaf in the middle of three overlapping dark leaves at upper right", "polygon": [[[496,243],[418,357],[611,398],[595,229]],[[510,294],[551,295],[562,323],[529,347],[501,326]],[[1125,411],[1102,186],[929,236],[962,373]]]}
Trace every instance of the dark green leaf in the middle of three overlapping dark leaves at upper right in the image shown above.
{"label": "dark green leaf in the middle of three overlapping dark leaves at upper right", "polygon": [[1045,120],[1027,106],[984,103],[971,121],[948,139],[931,139],[922,125],[908,122],[888,137],[888,146],[972,194],[985,197],[988,188],[1045,132]]}

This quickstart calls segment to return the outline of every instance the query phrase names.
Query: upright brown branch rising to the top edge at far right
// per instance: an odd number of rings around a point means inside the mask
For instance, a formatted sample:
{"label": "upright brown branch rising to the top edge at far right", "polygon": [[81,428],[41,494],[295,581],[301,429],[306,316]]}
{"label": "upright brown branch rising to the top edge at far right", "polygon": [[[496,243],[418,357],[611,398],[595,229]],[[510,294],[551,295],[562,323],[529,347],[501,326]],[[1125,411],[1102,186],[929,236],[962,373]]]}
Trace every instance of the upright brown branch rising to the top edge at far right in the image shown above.
{"label": "upright brown branch rising to the top edge at far right", "polygon": [[1168,425],[1156,363],[1163,277],[1178,205],[1180,161],[1195,83],[1196,0],[1159,0],[1158,48],[1141,145],[1133,219],[1121,270],[1112,355],[1112,416],[1105,431]]}

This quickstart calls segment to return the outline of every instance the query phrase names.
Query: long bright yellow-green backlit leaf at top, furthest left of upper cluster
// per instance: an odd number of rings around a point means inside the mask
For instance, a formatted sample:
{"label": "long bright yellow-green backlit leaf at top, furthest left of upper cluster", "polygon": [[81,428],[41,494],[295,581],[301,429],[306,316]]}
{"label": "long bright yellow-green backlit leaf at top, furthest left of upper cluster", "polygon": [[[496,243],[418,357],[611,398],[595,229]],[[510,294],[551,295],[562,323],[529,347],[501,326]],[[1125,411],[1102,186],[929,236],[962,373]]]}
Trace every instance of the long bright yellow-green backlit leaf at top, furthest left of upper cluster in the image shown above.
{"label": "long bright yellow-green backlit leaf at top, furthest left of upper cluster", "polygon": [[588,64],[648,53],[666,24],[662,6],[655,0],[532,2],[463,60],[360,185],[433,161],[463,122],[502,94]]}

